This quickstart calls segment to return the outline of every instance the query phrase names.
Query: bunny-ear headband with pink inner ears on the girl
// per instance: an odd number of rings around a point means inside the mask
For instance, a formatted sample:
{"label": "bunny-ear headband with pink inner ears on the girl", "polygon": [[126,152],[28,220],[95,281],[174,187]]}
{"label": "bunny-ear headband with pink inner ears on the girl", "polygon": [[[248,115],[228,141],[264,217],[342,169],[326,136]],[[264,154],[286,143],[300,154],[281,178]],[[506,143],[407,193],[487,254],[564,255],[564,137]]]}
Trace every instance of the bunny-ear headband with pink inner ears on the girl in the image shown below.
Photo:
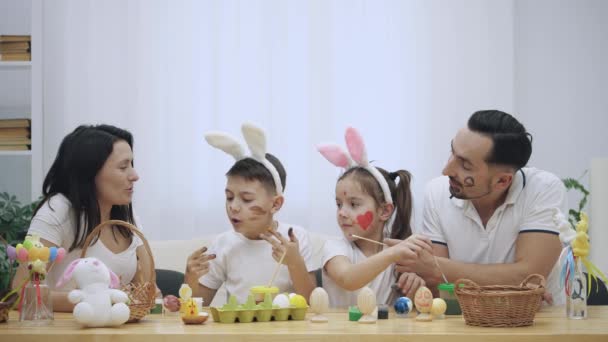
{"label": "bunny-ear headband with pink inner ears on the girl", "polygon": [[318,145],[317,150],[321,152],[323,157],[335,166],[343,168],[345,171],[353,167],[362,167],[369,171],[374,176],[382,192],[384,193],[384,201],[386,203],[393,203],[391,197],[391,190],[388,187],[386,179],[378,169],[370,165],[367,160],[367,153],[365,151],[365,144],[361,134],[356,129],[348,127],[344,136],[346,139],[346,146],[348,147],[348,153],[346,153],[340,146],[335,144]]}

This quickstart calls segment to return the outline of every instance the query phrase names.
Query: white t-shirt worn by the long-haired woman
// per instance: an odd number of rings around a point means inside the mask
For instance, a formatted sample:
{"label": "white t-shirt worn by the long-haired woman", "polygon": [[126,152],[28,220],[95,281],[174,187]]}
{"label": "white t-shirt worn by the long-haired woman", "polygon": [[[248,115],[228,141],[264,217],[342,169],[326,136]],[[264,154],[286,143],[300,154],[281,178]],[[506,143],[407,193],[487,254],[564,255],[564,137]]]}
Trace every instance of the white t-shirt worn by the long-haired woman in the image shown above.
{"label": "white t-shirt worn by the long-haired woman", "polygon": [[[51,209],[52,208],[52,209]],[[47,283],[51,289],[55,288],[57,281],[63,275],[68,265],[80,258],[82,248],[76,248],[68,252],[76,236],[76,223],[74,210],[70,201],[62,194],[51,197],[38,210],[36,216],[30,223],[28,234],[37,234],[41,239],[47,240],[66,251],[65,258],[55,264],[47,276]],[[138,227],[140,228],[140,227]],[[133,236],[131,245],[124,251],[114,254],[101,240],[87,249],[87,257],[95,257],[103,261],[120,278],[121,284],[128,284],[137,271],[137,256],[135,254],[142,241],[137,235]],[[70,281],[61,291],[69,291],[75,288],[75,283]]]}

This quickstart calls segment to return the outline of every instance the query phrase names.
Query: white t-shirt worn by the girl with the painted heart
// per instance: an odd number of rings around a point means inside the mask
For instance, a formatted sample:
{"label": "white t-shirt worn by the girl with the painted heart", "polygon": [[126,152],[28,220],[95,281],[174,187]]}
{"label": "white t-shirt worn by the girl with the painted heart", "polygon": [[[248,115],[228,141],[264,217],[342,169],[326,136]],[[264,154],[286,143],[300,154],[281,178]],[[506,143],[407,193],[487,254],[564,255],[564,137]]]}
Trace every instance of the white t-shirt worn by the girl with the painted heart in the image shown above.
{"label": "white t-shirt worn by the girl with the painted heart", "polygon": [[[329,295],[329,306],[332,308],[347,308],[357,305],[357,295],[360,290],[347,291],[336,284],[325,271],[325,264],[336,256],[343,255],[353,264],[358,264],[367,257],[357,245],[348,241],[346,238],[330,239],[323,246],[323,288]],[[391,264],[387,269],[380,273],[374,280],[366,286],[376,294],[378,304],[392,304],[394,291],[391,286],[397,281],[395,276],[395,264]]]}

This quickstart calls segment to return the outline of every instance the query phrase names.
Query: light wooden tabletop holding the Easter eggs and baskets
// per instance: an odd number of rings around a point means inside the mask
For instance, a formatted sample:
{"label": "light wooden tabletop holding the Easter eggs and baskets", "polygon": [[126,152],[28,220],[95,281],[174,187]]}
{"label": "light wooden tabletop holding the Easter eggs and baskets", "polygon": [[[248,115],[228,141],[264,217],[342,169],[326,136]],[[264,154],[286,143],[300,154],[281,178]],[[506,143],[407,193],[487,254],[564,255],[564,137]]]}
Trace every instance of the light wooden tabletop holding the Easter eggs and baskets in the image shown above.
{"label": "light wooden tabletop holding the Easter eggs and baskets", "polygon": [[[311,314],[308,314],[310,317]],[[148,315],[139,323],[120,328],[80,328],[71,314],[57,313],[55,321],[43,327],[22,326],[16,312],[8,323],[0,324],[1,342],[202,342],[202,341],[608,341],[608,306],[589,307],[589,318],[574,321],[565,317],[564,307],[543,308],[535,324],[521,328],[480,328],[467,326],[462,316],[417,322],[398,318],[377,324],[348,321],[346,312],[327,314],[328,323],[286,321],[184,325],[178,316]]]}

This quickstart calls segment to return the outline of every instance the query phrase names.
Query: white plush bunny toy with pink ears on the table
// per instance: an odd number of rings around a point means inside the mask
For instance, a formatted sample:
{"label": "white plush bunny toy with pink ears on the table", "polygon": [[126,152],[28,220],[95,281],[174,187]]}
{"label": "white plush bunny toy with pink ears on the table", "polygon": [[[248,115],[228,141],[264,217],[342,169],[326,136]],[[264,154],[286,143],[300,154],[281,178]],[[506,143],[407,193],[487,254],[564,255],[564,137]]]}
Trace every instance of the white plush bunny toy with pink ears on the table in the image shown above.
{"label": "white plush bunny toy with pink ears on the table", "polygon": [[[74,318],[87,327],[118,326],[129,319],[130,310],[125,302],[127,295],[115,290],[120,285],[118,276],[96,258],[74,260],[57,282],[63,286],[74,277],[79,289],[68,294],[76,304]],[[115,303],[115,304],[114,304]]]}

